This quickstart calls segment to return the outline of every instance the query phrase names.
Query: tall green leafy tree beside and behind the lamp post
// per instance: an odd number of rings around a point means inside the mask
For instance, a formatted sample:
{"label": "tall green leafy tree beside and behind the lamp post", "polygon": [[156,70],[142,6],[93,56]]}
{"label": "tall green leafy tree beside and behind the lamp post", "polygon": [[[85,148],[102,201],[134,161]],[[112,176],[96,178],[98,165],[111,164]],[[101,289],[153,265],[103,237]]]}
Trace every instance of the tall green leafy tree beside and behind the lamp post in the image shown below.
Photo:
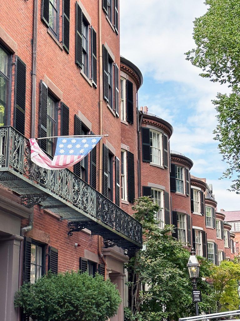
{"label": "tall green leafy tree beside and behind the lamp post", "polygon": [[[127,263],[132,320],[134,317],[138,321],[178,320],[179,317],[193,315],[192,284],[187,271],[189,252],[172,237],[172,226],[159,229],[154,218],[159,206],[149,197],[140,197],[133,209],[135,218],[142,223],[144,249]],[[203,257],[199,257],[199,262],[198,288],[203,296],[199,309],[200,312],[208,312],[215,307],[215,291],[202,277],[210,275],[212,264]],[[145,284],[147,291],[140,289],[141,284]],[[130,315],[126,311],[127,321],[131,320]]]}

